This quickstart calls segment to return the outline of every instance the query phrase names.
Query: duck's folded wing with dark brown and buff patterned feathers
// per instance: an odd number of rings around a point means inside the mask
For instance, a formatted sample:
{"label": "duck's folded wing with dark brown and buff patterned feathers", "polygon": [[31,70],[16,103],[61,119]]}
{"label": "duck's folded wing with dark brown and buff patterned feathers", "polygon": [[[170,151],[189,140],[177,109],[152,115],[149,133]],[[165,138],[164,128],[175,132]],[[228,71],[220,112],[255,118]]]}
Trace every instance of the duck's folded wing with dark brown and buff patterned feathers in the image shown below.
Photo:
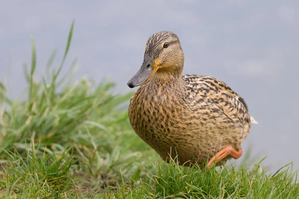
{"label": "duck's folded wing with dark brown and buff patterned feathers", "polygon": [[[187,92],[193,98],[195,106],[206,112],[207,120],[219,123],[239,123],[250,125],[248,106],[243,98],[224,82],[204,75],[183,75]],[[205,116],[204,116],[205,117]]]}

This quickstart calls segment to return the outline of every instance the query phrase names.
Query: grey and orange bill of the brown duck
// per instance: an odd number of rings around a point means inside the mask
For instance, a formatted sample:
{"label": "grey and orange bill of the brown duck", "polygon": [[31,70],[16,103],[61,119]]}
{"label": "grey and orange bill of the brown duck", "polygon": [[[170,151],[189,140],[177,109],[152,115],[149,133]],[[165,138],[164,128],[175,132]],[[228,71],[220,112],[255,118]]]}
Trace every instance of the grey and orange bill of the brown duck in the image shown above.
{"label": "grey and orange bill of the brown duck", "polygon": [[156,71],[157,67],[153,67],[152,64],[149,65],[147,62],[145,62],[136,75],[129,80],[127,85],[130,88],[138,87],[145,83]]}

